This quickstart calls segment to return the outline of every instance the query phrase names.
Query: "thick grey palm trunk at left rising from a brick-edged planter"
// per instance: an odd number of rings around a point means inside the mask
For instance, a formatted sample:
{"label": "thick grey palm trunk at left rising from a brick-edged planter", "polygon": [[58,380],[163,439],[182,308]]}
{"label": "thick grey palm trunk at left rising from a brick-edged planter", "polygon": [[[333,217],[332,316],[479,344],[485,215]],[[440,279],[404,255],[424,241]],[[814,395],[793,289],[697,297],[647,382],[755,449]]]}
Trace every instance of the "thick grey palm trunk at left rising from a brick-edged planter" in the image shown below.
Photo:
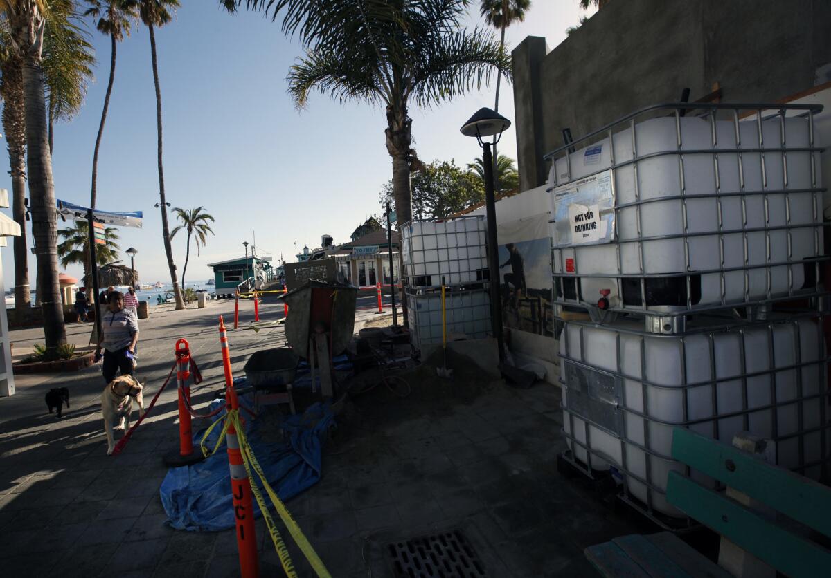
{"label": "thick grey palm trunk at left rising from a brick-edged planter", "polygon": [[66,328],[57,280],[57,211],[49,155],[46,95],[39,54],[35,51],[28,51],[23,61],[23,96],[32,234],[37,246],[37,284],[41,291],[44,340],[48,357],[52,357],[57,346],[66,343]]}

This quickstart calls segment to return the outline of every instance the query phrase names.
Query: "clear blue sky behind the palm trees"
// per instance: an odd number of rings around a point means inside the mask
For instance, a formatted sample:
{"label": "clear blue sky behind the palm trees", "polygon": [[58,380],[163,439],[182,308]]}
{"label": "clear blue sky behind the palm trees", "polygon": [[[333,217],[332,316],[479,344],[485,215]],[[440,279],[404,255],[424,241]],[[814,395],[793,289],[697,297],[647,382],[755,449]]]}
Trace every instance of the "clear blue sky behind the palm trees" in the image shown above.
{"label": "clear blue sky behind the palm trees", "polygon": [[[165,136],[165,190],[174,206],[202,205],[216,217],[215,236],[196,256],[192,247],[186,280],[204,282],[208,263],[243,255],[243,240],[256,235],[258,252],[287,261],[320,236],[348,240],[354,228],[378,212],[381,185],[391,178],[386,120],[380,107],[341,104],[314,95],[297,111],[286,93],[288,67],[302,51],[277,23],[256,12],[227,14],[212,0],[183,0],[175,21],[156,32]],[[592,11],[593,12],[593,11]],[[525,19],[506,33],[509,46],[525,36],[545,36],[553,48],[578,22],[578,0],[534,0]],[[470,26],[481,25],[473,2]],[[56,196],[87,206],[92,150],[110,63],[110,42],[91,27],[98,65],[81,114],[58,124],[52,163]],[[101,210],[144,211],[143,229],[120,229],[121,250],[138,250],[135,267],[143,283],[169,282],[153,207],[159,200],[156,172],[155,97],[150,40],[138,27],[118,48],[116,83],[98,163]],[[482,106],[493,107],[488,87],[434,109],[411,109],[414,146],[425,161],[455,158],[464,166],[479,156],[461,124]],[[513,88],[500,90],[500,112],[514,118]],[[499,152],[516,158],[514,129]],[[3,147],[5,148],[5,147]],[[2,159],[7,159],[6,155]],[[7,160],[0,161],[7,166]],[[0,187],[9,189],[7,170]],[[9,211],[4,210],[7,214]],[[172,219],[172,216],[171,216]],[[171,220],[171,227],[173,226]],[[179,276],[184,236],[174,239]],[[295,245],[295,243],[297,245]],[[31,244],[31,237],[30,237]],[[124,255],[125,263],[129,257]],[[3,279],[14,285],[11,239],[2,249]],[[35,260],[30,257],[30,283]],[[79,275],[80,268],[70,267]]]}

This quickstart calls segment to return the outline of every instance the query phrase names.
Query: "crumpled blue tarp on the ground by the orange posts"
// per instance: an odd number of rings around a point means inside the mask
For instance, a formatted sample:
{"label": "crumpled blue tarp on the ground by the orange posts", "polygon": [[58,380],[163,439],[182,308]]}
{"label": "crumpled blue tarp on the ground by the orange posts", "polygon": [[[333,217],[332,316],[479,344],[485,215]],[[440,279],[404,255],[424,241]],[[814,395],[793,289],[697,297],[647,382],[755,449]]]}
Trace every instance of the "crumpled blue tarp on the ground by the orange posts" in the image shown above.
{"label": "crumpled blue tarp on the ground by the orange posts", "polygon": [[[242,386],[244,380],[234,380],[235,386]],[[214,400],[213,410],[224,401]],[[252,406],[246,396],[240,404]],[[218,420],[225,415],[223,410],[214,417]],[[258,432],[258,420],[250,419],[243,412],[245,435],[268,483],[280,499],[288,500],[304,489],[317,483],[321,476],[322,438],[333,425],[334,416],[328,406],[317,403],[302,415],[287,416],[283,420],[285,442],[267,442]],[[208,440],[213,449],[220,427],[214,428]],[[194,435],[194,449],[199,451],[199,440],[204,430]],[[256,475],[256,474],[255,474]],[[168,470],[160,488],[161,503],[165,508],[167,523],[177,530],[219,531],[234,527],[234,509],[231,503],[231,481],[228,454],[225,444],[219,446],[216,454],[204,462],[183,468]],[[265,493],[263,492],[263,495]],[[268,499],[268,498],[266,498]],[[255,515],[260,516],[256,500]]]}

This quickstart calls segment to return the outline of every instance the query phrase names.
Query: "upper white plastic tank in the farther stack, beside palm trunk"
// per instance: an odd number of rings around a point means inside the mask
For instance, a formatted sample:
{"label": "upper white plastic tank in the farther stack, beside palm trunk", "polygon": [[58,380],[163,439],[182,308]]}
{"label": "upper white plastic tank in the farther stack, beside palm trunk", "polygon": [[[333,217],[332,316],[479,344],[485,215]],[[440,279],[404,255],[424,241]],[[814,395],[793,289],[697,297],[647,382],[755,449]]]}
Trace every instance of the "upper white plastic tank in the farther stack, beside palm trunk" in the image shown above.
{"label": "upper white plastic tank in the farther stack, beside palm trunk", "polygon": [[412,221],[404,226],[401,246],[411,287],[481,281],[488,268],[483,216]]}

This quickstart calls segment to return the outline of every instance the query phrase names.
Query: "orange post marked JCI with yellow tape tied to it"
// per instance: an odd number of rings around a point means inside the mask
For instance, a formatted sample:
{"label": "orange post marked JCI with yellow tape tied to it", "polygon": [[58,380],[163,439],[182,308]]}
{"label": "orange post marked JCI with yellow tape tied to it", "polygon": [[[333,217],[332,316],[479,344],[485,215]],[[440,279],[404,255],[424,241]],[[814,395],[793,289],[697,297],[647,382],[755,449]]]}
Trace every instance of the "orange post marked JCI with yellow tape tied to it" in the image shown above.
{"label": "orange post marked JCI with yellow tape tied to it", "polygon": [[[228,333],[222,315],[219,316],[219,344],[222,346],[222,365],[225,371],[225,397],[231,410],[239,409],[237,392],[234,391],[234,376],[231,374],[231,356],[228,349]],[[254,529],[254,509],[251,483],[243,464],[239,449],[237,430],[232,422],[225,435],[228,444],[228,464],[231,469],[231,495],[234,497],[234,521],[237,524],[237,550],[239,552],[239,575],[243,578],[259,576],[257,558],[257,534]]]}

